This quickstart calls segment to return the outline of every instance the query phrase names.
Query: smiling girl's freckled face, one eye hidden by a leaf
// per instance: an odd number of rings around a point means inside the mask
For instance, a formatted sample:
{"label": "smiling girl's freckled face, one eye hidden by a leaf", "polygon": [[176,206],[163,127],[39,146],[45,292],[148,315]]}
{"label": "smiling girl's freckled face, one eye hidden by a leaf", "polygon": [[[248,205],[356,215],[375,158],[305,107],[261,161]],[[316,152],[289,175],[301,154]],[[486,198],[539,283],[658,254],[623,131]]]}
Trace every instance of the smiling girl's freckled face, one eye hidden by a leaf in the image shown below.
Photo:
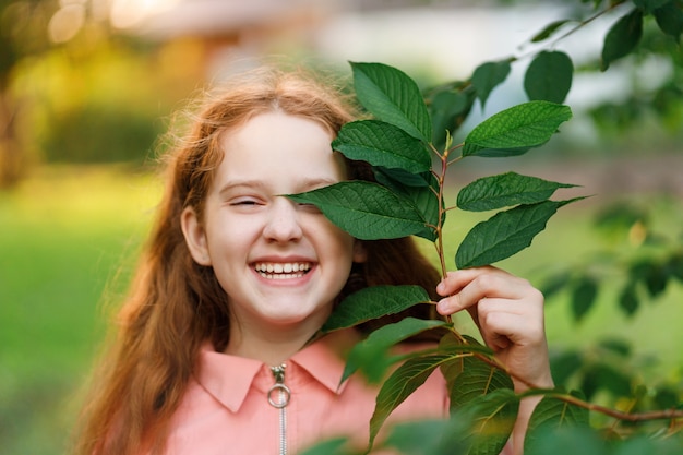
{"label": "smiling girl's freckled face, one eye hidden by a leaf", "polygon": [[281,112],[257,115],[223,140],[225,158],[205,202],[182,225],[194,260],[213,266],[241,331],[316,330],[362,248],[312,205],[280,194],[345,179],[331,134]]}

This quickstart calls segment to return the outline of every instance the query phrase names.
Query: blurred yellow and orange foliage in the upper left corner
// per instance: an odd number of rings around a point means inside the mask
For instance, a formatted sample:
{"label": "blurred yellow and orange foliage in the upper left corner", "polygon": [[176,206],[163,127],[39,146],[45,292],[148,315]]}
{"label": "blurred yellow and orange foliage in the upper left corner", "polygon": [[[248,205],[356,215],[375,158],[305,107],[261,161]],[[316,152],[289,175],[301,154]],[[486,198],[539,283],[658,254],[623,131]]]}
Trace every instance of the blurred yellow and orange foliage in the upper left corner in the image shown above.
{"label": "blurred yellow and orange foliage in the upper left corner", "polygon": [[38,163],[144,163],[163,119],[205,81],[201,40],[146,43],[88,19],[56,44],[58,8],[0,4],[0,185]]}

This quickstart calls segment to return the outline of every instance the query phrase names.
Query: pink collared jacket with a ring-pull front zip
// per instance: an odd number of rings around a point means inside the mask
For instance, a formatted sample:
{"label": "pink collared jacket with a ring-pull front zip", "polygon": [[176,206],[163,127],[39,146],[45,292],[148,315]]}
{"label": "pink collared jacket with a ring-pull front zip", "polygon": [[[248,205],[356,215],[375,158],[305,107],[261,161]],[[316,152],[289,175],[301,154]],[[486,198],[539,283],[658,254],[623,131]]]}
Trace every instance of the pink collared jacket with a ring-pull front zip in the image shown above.
{"label": "pink collared jacket with a ring-pull front zip", "polygon": [[[276,383],[268,366],[216,352],[209,345],[200,356],[199,374],[171,420],[167,455],[278,454],[281,448],[297,454],[336,435],[368,441],[376,388],[357,374],[339,386],[345,363],[325,338],[286,362],[284,385],[290,396],[284,410],[268,403]],[[277,386],[271,393],[273,404],[281,403],[284,391]],[[447,414],[445,381],[436,371],[387,423]]]}

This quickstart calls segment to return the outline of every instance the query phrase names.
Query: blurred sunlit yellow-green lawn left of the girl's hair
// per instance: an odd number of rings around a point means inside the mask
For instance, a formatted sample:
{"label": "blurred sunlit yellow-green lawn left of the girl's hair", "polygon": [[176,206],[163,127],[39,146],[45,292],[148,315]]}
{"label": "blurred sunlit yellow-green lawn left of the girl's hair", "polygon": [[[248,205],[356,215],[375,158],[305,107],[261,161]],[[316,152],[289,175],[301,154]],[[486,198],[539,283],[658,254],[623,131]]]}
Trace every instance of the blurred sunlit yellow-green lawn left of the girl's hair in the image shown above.
{"label": "blurred sunlit yellow-green lawn left of the girl's hair", "polygon": [[[153,207],[148,176],[46,168],[0,193],[0,453],[64,453],[105,294]],[[121,283],[121,285],[122,285]]]}

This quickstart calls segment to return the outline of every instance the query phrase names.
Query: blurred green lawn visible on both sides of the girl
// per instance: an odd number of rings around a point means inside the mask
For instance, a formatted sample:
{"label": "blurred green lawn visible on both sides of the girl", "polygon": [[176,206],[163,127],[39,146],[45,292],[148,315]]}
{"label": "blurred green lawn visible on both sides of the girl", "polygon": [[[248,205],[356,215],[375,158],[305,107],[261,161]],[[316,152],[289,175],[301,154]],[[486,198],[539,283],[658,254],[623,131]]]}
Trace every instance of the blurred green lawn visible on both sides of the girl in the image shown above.
{"label": "blurred green lawn visible on both sides of the girl", "polygon": [[[81,386],[107,326],[104,303],[123,291],[158,190],[149,175],[125,168],[48,167],[0,193],[0,454],[65,453]],[[548,267],[590,267],[599,244],[590,226],[594,208],[590,202],[563,208],[529,250],[501,265],[537,286]],[[655,208],[664,231],[680,230],[680,203]],[[451,215],[448,258],[477,220]],[[682,300],[681,285],[672,284],[627,319],[609,288],[577,324],[566,296],[551,299],[549,343],[580,347],[623,337],[637,356],[660,360],[656,374],[676,374],[683,366]]]}

